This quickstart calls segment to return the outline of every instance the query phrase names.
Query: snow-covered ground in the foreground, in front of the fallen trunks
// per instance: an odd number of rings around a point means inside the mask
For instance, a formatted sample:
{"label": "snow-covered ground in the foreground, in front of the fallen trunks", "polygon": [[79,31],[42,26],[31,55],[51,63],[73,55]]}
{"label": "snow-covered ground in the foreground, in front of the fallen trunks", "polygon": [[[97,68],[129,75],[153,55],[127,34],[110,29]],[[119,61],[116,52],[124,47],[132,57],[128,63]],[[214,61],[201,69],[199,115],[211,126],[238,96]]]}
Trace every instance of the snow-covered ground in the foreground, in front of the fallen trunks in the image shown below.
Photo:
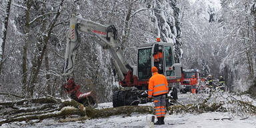
{"label": "snow-covered ground in the foreground, in front of the fallen trunks", "polygon": [[[86,121],[59,123],[58,120],[43,120],[41,123],[12,123],[3,125],[3,128],[9,127],[45,127],[45,128],[60,128],[60,127],[86,127],[86,128],[126,128],[126,127],[145,127],[147,115],[132,114],[130,117],[125,115],[112,116],[109,118],[91,119]],[[178,114],[167,115],[165,117],[165,125],[155,125],[154,127],[175,127],[175,128],[256,128],[256,117],[250,116],[247,119],[241,117],[232,117],[229,120],[229,113],[202,113],[199,115],[193,114]]]}

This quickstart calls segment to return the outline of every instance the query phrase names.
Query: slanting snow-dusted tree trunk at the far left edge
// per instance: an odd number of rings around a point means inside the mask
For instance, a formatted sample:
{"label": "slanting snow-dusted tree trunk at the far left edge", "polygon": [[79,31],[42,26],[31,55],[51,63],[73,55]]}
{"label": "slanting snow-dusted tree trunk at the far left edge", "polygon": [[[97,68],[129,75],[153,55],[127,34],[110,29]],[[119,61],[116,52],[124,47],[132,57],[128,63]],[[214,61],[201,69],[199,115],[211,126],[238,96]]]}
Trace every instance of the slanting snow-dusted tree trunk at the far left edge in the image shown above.
{"label": "slanting snow-dusted tree trunk at the far left edge", "polygon": [[9,21],[9,15],[10,15],[10,11],[11,11],[11,0],[9,0],[7,2],[7,6],[6,6],[6,11],[5,11],[5,20],[3,22],[3,31],[1,31],[1,39],[0,39],[0,45],[1,45],[1,49],[0,49],[0,75],[2,72],[2,68],[3,68],[3,62],[4,62],[4,54],[5,54],[5,41],[6,41],[6,36],[7,36],[7,29],[8,29],[8,21]]}

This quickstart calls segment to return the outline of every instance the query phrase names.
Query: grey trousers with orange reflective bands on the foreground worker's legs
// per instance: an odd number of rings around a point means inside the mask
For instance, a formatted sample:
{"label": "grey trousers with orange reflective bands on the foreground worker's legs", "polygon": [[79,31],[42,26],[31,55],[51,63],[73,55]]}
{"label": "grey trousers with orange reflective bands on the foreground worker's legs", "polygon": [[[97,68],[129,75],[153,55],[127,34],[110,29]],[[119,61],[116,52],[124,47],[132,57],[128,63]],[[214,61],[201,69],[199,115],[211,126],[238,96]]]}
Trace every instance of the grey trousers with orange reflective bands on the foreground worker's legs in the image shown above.
{"label": "grey trousers with orange reflective bands on the foreground worker's legs", "polygon": [[157,117],[165,117],[165,95],[154,96],[155,115]]}

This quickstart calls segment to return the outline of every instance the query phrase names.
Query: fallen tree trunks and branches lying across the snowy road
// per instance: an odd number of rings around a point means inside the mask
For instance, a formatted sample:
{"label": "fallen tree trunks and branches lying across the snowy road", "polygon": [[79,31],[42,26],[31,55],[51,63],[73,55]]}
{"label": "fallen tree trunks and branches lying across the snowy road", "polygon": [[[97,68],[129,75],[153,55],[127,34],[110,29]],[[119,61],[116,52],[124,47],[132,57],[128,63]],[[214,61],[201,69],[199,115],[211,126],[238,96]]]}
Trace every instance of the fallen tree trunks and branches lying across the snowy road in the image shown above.
{"label": "fallen tree trunks and branches lying across the snowy road", "polygon": [[[200,98],[200,97],[198,97]],[[223,97],[225,98],[225,97]],[[201,99],[201,103],[197,104],[188,104],[183,105],[176,101],[179,105],[174,105],[172,107],[169,107],[170,110],[169,113],[205,113],[208,111],[231,111],[237,110],[235,106],[239,106],[239,109],[242,109],[242,112],[245,113],[251,113],[256,114],[256,107],[253,106],[250,102],[247,101],[240,101],[237,99],[234,99],[234,97],[231,97],[231,99],[225,99],[225,101],[219,101],[216,100],[215,95],[209,95],[206,99]],[[31,105],[34,103],[33,105]],[[47,108],[47,105],[42,105],[42,103],[50,103],[49,108]],[[232,104],[233,106],[227,105],[227,103]],[[69,119],[60,119],[59,122],[66,122],[66,121],[83,121],[86,119],[93,119],[93,118],[99,118],[99,117],[110,117],[113,115],[131,115],[131,113],[154,113],[154,107],[151,106],[123,106],[123,107],[115,107],[115,108],[107,108],[107,109],[94,109],[92,107],[84,107],[81,103],[78,103],[77,101],[61,101],[61,99],[57,99],[55,97],[41,97],[37,99],[22,99],[20,101],[13,101],[13,102],[5,102],[0,103],[0,106],[3,109],[6,107],[14,107],[17,110],[10,113],[11,115],[5,115],[5,117],[2,117],[0,121],[0,125],[3,123],[10,123],[13,121],[29,121],[32,119],[39,119],[39,121],[47,118],[63,118],[67,117],[69,115],[75,115],[74,118]],[[30,111],[21,111],[23,110],[23,107],[20,107],[19,105],[25,105],[29,107],[35,107],[35,105],[41,105],[37,106],[35,108],[41,108],[43,106],[44,109],[38,109],[39,111],[33,109],[33,108],[25,108],[25,110]],[[70,107],[71,106],[71,107]],[[231,108],[233,107],[233,108]],[[249,109],[249,110],[248,110]],[[33,111],[35,110],[35,111]],[[17,114],[16,112],[22,112]],[[7,114],[7,113],[5,113]],[[80,116],[80,117],[77,117]],[[223,118],[229,119],[229,118]]]}

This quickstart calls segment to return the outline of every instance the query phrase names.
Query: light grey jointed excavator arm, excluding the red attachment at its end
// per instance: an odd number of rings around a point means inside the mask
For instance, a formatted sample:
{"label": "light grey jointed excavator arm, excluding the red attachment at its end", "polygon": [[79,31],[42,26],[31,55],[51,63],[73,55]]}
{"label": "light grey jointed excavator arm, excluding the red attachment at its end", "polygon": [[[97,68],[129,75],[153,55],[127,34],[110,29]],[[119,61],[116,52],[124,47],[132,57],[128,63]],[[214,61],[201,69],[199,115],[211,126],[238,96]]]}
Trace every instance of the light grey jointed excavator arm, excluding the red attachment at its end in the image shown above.
{"label": "light grey jointed excavator arm, excluding the red attachment at its end", "polygon": [[[78,20],[80,22],[78,22]],[[123,59],[123,51],[116,43],[117,30],[113,25],[105,26],[92,21],[87,21],[81,17],[76,17],[75,14],[71,15],[69,23],[69,32],[67,33],[67,45],[65,51],[65,67],[64,75],[72,77],[73,69],[75,65],[75,55],[77,48],[80,45],[79,33],[84,32],[97,37],[96,41],[103,47],[103,49],[109,49],[117,74],[121,80],[125,79],[125,75],[131,70],[131,68],[125,63]]]}

